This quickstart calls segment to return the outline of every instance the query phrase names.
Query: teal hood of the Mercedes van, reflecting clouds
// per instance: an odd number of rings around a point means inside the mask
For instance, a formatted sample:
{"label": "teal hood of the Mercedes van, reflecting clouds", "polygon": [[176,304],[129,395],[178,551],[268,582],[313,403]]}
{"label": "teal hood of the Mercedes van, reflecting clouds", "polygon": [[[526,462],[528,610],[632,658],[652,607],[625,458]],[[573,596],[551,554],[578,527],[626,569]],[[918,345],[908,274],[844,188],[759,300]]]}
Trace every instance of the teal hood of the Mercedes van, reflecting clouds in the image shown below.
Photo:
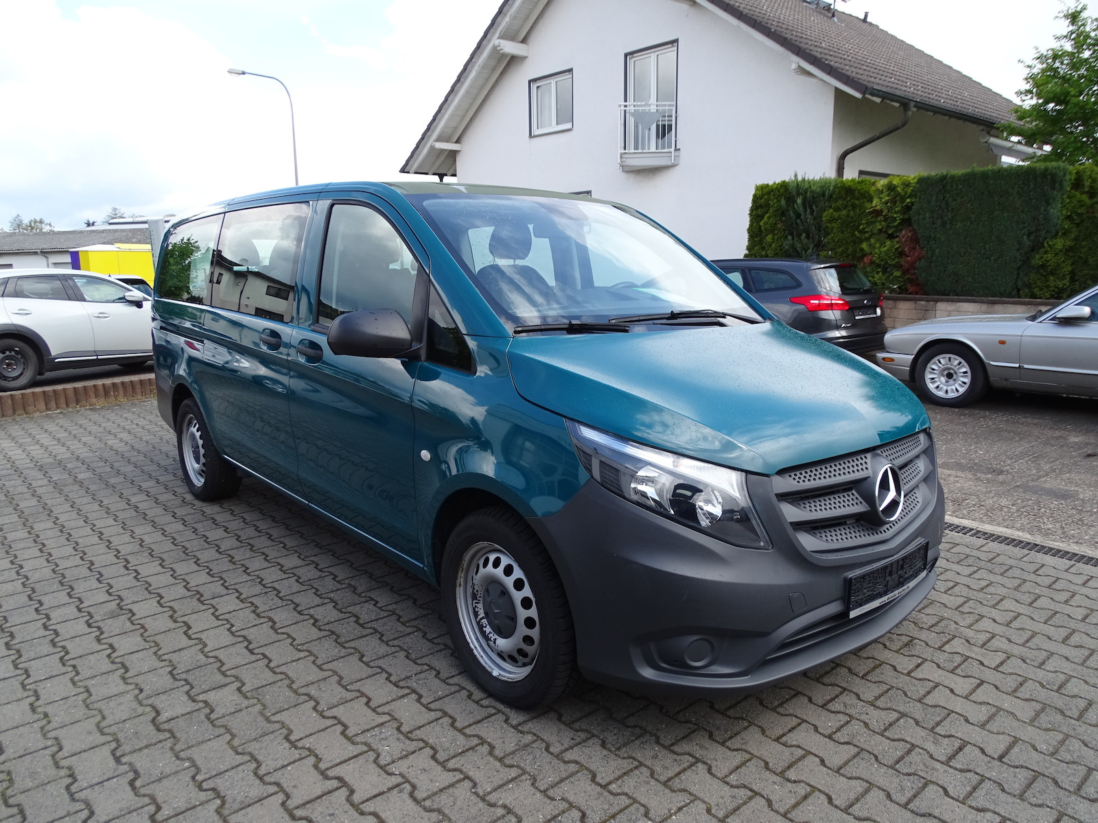
{"label": "teal hood of the Mercedes van, reflecting clouds", "polygon": [[780,323],[516,337],[530,403],[630,440],[760,474],[930,425],[877,367]]}

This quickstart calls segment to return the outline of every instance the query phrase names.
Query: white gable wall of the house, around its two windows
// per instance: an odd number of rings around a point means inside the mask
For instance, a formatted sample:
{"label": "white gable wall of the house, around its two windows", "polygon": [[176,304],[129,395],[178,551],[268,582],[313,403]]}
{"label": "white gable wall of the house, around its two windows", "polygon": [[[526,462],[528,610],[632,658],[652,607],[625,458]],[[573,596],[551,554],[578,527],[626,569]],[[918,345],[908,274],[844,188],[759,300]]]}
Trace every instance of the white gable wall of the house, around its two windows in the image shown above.
{"label": "white gable wall of the house, around its two windows", "polygon": [[[621,171],[625,55],[675,38],[680,162]],[[695,3],[552,0],[525,42],[459,138],[461,183],[590,189],[719,258],[743,253],[757,183],[833,173],[832,87]],[[569,68],[573,127],[530,137],[528,81]]]}

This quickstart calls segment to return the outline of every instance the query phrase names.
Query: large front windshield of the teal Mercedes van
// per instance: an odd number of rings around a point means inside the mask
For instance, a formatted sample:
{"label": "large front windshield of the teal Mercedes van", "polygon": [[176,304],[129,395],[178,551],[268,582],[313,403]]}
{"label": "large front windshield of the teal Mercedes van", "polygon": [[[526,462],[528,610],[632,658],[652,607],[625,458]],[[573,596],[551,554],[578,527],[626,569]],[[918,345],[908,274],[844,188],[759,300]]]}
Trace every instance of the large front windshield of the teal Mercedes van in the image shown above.
{"label": "large front windshield of the teal Mercedes van", "polygon": [[621,208],[494,194],[408,200],[512,329],[672,312],[759,319],[682,244]]}

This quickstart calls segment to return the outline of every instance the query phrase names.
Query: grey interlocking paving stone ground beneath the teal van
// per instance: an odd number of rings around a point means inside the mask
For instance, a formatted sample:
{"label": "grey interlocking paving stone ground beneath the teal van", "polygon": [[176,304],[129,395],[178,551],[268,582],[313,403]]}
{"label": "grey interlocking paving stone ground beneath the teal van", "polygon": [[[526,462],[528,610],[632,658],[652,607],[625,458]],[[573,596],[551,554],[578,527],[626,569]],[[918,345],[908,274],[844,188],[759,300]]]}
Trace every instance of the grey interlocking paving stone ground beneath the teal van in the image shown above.
{"label": "grey interlocking paving stone ground beneath the teal van", "polygon": [[0,821],[1098,820],[1098,568],[950,538],[881,642],[754,696],[495,703],[435,593],[153,402],[0,422]]}

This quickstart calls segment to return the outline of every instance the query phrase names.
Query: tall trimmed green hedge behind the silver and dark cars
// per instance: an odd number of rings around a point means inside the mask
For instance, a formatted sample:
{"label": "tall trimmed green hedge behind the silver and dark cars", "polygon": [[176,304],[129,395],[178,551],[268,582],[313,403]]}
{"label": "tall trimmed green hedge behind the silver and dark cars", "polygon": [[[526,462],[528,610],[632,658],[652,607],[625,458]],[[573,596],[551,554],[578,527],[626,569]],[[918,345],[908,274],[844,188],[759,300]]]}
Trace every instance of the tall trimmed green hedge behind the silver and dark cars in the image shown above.
{"label": "tall trimmed green hedge behind the silver and dark cars", "polygon": [[1098,169],[766,183],[747,256],[850,260],[890,293],[1067,297],[1098,282]]}

